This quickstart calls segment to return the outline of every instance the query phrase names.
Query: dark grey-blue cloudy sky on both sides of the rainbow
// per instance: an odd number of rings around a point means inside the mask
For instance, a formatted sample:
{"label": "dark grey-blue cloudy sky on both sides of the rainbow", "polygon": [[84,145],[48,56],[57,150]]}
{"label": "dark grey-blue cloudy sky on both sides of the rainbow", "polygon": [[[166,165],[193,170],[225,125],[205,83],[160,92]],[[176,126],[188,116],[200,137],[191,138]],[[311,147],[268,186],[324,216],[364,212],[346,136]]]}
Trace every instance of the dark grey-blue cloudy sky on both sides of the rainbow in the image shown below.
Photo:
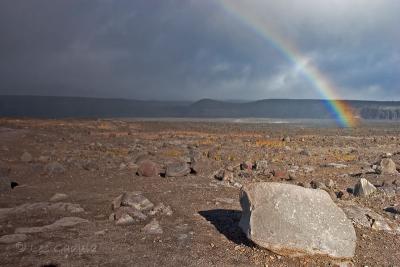
{"label": "dark grey-blue cloudy sky on both sides of the rainbow", "polygon": [[[399,0],[232,0],[347,99],[400,100]],[[0,94],[320,98],[218,0],[1,0]]]}

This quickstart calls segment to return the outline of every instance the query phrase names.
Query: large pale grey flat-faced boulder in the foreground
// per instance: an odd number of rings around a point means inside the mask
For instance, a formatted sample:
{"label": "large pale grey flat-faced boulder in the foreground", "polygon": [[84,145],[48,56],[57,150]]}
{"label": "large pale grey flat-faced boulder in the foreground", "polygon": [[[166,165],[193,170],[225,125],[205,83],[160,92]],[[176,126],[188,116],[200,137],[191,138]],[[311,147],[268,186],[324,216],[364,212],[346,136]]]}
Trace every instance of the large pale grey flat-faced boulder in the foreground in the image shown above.
{"label": "large pale grey flat-faced boulder in the foreground", "polygon": [[356,233],[323,190],[254,183],[241,191],[239,226],[257,245],[285,256],[352,258]]}

